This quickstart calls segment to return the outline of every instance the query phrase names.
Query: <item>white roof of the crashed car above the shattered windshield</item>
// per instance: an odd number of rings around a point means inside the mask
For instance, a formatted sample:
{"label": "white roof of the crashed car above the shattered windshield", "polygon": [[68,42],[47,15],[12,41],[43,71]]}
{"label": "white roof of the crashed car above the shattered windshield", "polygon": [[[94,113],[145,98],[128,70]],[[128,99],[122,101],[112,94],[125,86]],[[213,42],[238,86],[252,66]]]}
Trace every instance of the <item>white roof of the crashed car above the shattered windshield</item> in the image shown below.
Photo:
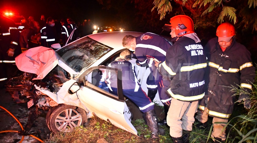
{"label": "white roof of the crashed car above the shattered windshield", "polygon": [[88,35],[88,37],[115,49],[121,47],[124,36],[132,35],[138,37],[141,34],[140,32],[104,32]]}

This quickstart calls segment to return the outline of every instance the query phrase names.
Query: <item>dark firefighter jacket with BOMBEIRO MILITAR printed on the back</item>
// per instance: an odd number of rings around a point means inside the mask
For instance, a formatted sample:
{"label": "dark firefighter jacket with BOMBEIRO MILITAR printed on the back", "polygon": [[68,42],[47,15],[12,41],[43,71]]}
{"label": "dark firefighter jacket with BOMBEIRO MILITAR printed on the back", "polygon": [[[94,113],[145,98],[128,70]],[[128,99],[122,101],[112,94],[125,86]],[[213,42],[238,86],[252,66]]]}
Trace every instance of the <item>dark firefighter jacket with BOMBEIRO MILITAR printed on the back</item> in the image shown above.
{"label": "dark firefighter jacket with BOMBEIRO MILITAR printed on the back", "polygon": [[172,98],[192,102],[204,97],[206,65],[201,43],[180,37],[168,49],[166,60],[158,64],[158,69],[163,76],[173,77],[167,90]]}

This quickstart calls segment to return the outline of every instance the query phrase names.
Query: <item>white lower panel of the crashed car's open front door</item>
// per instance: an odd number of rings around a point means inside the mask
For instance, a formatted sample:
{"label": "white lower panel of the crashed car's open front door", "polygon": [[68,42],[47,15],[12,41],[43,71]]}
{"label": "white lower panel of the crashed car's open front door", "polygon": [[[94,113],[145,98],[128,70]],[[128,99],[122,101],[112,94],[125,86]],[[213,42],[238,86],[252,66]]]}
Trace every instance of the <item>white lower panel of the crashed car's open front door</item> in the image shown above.
{"label": "white lower panel of the crashed car's open front door", "polygon": [[136,129],[131,124],[131,116],[128,119],[126,114],[123,114],[125,109],[128,111],[127,104],[124,101],[121,102],[114,100],[99,94],[86,86],[81,87],[81,91],[78,92],[78,98],[90,112],[94,112],[99,118],[111,122],[113,125],[137,135]]}

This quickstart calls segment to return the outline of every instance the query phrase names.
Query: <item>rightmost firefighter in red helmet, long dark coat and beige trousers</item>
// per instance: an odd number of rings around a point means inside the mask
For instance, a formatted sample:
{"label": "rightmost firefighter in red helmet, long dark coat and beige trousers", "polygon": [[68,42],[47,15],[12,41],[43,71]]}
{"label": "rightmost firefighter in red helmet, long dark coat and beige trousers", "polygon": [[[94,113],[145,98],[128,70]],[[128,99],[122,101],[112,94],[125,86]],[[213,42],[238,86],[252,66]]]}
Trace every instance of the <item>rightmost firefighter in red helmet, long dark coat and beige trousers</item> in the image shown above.
{"label": "rightmost firefighter in red helmet, long dark coat and beige trousers", "polygon": [[[228,122],[232,114],[236,96],[230,90],[231,86],[244,90],[238,101],[244,100],[244,107],[250,109],[250,98],[247,95],[252,91],[255,70],[252,65],[251,54],[245,46],[236,42],[235,28],[230,23],[218,26],[217,37],[208,41],[205,46],[207,52],[206,70],[206,97],[200,102],[196,118],[201,124],[197,127],[206,127],[208,115],[214,122]],[[199,126],[201,125],[201,126]],[[211,136],[218,140],[226,139],[226,124],[213,124]],[[223,130],[223,131],[222,131]]]}

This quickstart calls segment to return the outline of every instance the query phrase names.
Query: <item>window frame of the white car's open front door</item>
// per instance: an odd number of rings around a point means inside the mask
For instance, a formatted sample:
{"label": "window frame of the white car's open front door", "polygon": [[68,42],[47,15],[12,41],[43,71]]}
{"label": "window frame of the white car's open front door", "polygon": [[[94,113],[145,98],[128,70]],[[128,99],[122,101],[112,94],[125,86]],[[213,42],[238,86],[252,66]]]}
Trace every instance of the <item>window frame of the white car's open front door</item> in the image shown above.
{"label": "window frame of the white car's open front door", "polygon": [[[87,79],[85,78],[86,75],[88,75],[89,73],[93,72],[94,69],[109,69],[109,70],[115,70],[117,71],[117,92],[118,92],[118,98],[116,95],[107,92],[95,85],[93,85],[92,83],[88,82]],[[95,92],[98,92],[102,95],[108,96],[112,99],[118,100],[120,102],[125,102],[124,100],[124,95],[123,95],[123,90],[122,90],[122,74],[121,74],[121,69],[118,68],[113,68],[113,67],[107,67],[107,66],[95,66],[95,67],[90,67],[88,68],[81,76],[79,76],[78,78],[78,82],[80,86],[84,86],[86,88],[89,88],[91,90],[94,90]]]}

